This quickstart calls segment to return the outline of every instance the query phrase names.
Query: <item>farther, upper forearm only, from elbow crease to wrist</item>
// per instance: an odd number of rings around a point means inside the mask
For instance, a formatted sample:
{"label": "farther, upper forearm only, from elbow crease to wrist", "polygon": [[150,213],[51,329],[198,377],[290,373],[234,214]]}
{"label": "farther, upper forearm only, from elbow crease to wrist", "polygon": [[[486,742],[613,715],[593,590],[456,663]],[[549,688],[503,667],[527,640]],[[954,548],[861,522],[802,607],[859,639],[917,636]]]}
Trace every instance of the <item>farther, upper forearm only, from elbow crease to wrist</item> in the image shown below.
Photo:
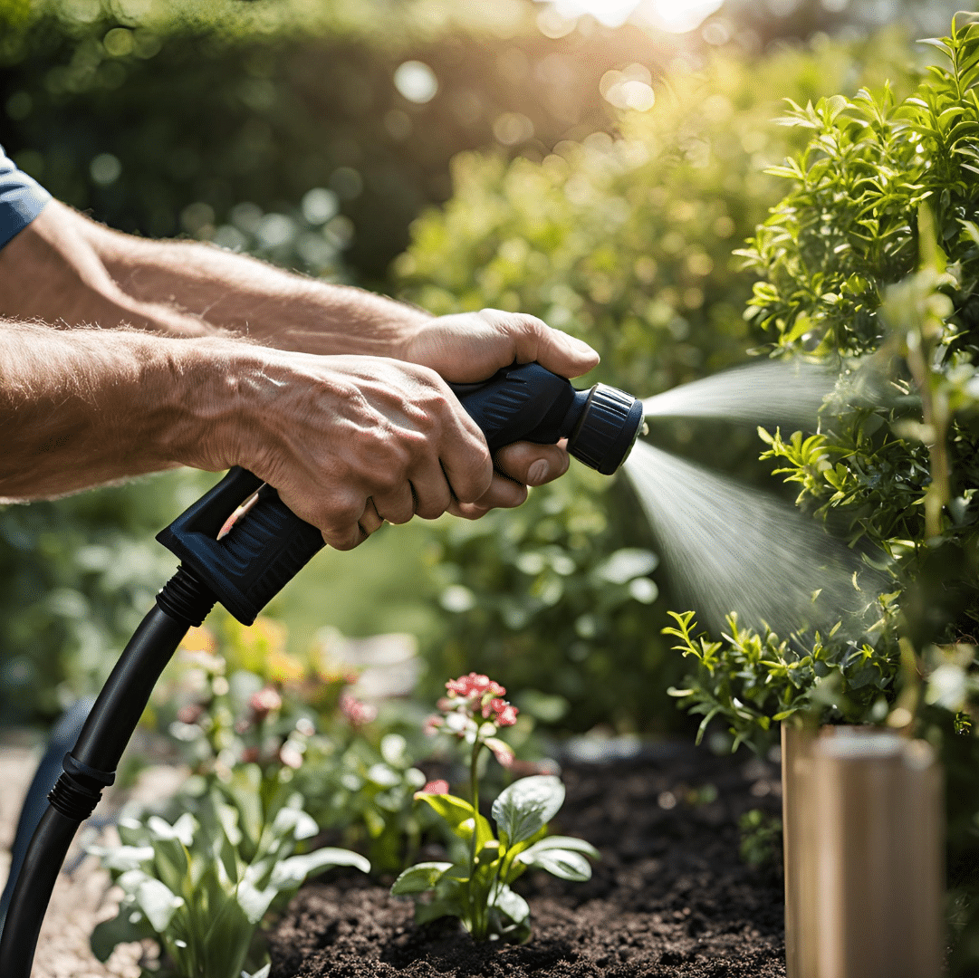
{"label": "farther, upper forearm only, from elbow crease to wrist", "polygon": [[350,286],[287,272],[199,242],[120,234],[76,215],[117,287],[258,343],[309,353],[398,357],[428,313]]}

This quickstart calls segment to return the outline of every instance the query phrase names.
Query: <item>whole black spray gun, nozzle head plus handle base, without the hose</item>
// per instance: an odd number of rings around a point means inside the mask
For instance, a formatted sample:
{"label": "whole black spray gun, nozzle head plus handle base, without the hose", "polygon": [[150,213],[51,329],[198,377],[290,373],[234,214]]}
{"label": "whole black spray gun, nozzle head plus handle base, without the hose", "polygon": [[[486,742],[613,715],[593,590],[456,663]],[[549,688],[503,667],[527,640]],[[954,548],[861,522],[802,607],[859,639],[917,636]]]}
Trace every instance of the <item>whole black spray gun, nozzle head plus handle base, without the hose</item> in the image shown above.
{"label": "whole black spray gun, nozzle head plus handle base, without the hose", "polygon": [[[554,444],[566,438],[572,455],[604,475],[626,460],[643,420],[642,402],[635,397],[605,384],[576,391],[538,363],[506,367],[482,384],[452,390],[486,435],[490,451],[513,442]],[[224,522],[256,489],[255,505],[218,539]],[[293,513],[275,489],[240,468],[157,539],[245,625],[323,547],[314,526]],[[161,596],[164,611],[173,597]]]}

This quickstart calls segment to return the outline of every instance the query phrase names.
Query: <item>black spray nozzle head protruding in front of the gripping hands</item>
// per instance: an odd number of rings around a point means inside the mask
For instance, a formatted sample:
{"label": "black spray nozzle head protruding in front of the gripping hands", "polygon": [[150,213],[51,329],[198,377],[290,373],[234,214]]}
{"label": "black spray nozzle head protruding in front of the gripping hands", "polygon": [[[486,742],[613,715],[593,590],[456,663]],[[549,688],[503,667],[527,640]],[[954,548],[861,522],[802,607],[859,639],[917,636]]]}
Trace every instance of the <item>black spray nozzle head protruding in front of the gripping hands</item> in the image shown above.
{"label": "black spray nozzle head protruding in front of the gripping hands", "polygon": [[489,450],[513,442],[554,444],[610,476],[642,427],[642,401],[607,384],[577,391],[539,363],[504,367],[482,384],[450,385],[486,436]]}

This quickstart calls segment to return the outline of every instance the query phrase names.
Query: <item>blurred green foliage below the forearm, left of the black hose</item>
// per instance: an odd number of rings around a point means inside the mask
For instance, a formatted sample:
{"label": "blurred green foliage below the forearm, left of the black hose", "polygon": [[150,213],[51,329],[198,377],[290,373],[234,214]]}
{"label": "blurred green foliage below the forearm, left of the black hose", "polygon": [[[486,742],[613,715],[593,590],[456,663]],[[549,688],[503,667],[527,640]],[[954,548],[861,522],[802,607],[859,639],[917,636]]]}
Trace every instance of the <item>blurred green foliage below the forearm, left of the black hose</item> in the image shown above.
{"label": "blurred green foliage below the forearm, left of the black hose", "polygon": [[0,507],[0,724],[50,719],[105,681],[173,573],[154,534],[206,480],[170,473]]}

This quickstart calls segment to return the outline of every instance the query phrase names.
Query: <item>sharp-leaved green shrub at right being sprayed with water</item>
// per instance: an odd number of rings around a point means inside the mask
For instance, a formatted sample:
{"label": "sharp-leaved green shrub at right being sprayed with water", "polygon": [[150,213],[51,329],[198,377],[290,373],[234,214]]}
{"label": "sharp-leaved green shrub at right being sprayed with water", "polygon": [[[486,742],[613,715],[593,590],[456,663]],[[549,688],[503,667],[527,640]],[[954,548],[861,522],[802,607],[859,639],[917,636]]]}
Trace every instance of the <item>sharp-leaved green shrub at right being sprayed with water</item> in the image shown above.
{"label": "sharp-leaved green shrub at right being sprayed with water", "polygon": [[[870,354],[886,373],[892,396],[877,407],[826,417],[806,441],[766,433],[764,457],[804,509],[890,562],[893,592],[858,641],[732,632],[714,643],[680,634],[680,617],[674,633],[699,660],[686,702],[716,710],[738,739],[763,740],[770,720],[805,710],[822,722],[886,721],[942,749],[964,928],[953,972],[964,975],[979,961],[969,868],[979,824],[979,25],[960,16],[951,37],[925,43],[941,61],[907,98],[885,88],[791,107],[784,123],[811,142],[772,171],[790,189],[741,253],[762,276],[749,316],[773,355]],[[764,656],[743,654],[760,643]]]}

